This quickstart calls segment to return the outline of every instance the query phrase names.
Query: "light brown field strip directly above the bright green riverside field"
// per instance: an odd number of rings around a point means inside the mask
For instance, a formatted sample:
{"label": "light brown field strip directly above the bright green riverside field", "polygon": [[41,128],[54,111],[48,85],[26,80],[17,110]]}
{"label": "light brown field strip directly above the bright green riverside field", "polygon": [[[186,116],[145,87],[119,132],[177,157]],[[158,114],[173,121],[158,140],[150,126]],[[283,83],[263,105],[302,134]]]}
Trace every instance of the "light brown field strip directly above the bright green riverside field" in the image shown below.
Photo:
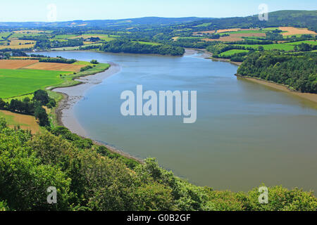
{"label": "light brown field strip directly above the bright green riverside field", "polygon": [[85,65],[73,65],[67,63],[35,63],[24,67],[24,69],[77,72],[80,71],[80,68],[82,68],[83,66]]}

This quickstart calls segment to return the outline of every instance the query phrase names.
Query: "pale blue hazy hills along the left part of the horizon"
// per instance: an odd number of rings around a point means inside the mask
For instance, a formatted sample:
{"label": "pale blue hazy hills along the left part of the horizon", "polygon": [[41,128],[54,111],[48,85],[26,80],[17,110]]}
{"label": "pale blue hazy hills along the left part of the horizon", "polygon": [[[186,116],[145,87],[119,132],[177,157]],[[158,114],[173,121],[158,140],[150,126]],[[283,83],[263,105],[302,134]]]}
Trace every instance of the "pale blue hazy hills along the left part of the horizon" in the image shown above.
{"label": "pale blue hazy hills along the left part of the horizon", "polygon": [[133,26],[161,26],[175,25],[182,23],[192,23],[197,20],[211,20],[212,18],[160,18],[160,17],[144,17],[120,20],[73,20],[66,22],[0,22],[0,27],[23,27],[23,28],[40,28],[40,27],[133,27]]}

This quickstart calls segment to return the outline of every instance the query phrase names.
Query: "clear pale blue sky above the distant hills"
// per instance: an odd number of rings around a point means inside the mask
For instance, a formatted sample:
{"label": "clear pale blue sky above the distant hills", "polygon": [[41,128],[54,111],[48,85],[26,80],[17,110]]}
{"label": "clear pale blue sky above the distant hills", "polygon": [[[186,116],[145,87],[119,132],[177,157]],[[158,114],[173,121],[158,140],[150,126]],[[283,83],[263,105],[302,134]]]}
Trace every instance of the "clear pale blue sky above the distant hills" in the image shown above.
{"label": "clear pale blue sky above the distant hills", "polygon": [[56,20],[104,20],[160,17],[232,17],[259,13],[259,4],[268,11],[283,9],[317,10],[316,0],[11,0],[2,1],[0,21],[48,21],[47,6],[55,4]]}

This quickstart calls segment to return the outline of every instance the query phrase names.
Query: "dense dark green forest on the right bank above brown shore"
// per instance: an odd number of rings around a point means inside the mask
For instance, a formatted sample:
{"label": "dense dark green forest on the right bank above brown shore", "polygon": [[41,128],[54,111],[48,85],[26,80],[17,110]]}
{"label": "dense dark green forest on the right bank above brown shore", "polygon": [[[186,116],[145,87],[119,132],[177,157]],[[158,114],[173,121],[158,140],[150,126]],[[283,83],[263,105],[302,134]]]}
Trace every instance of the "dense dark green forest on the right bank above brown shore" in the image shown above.
{"label": "dense dark green forest on the right bank above brown shore", "polygon": [[278,51],[251,53],[237,70],[238,75],[259,77],[291,88],[317,94],[317,54],[281,55]]}

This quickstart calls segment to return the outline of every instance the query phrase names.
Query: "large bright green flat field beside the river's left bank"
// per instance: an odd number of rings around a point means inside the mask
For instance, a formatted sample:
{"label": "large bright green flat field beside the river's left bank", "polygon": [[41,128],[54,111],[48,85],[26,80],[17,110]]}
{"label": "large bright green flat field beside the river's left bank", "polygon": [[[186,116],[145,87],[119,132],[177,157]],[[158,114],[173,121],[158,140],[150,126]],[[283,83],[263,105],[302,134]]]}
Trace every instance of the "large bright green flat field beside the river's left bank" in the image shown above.
{"label": "large bright green flat field beside the river's left bank", "polygon": [[46,86],[64,82],[60,74],[70,72],[49,70],[7,70],[0,69],[0,98],[11,98],[31,94]]}

